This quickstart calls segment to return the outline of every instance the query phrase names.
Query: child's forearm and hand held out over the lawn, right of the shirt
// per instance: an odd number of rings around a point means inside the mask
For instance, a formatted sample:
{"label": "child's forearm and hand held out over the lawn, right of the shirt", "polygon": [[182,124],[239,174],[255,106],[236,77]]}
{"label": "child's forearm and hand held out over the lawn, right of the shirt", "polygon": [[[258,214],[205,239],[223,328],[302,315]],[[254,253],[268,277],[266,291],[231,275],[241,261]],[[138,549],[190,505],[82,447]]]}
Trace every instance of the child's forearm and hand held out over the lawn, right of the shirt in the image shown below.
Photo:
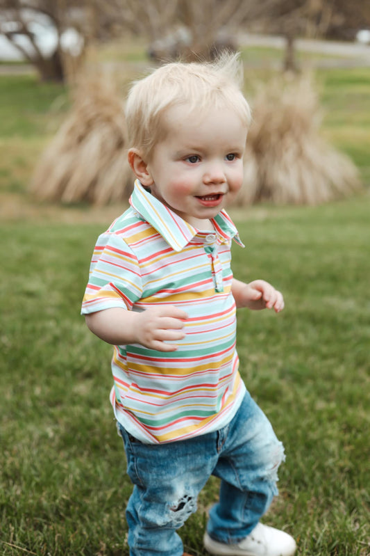
{"label": "child's forearm and hand held out over the lawn, right of the shirt", "polygon": [[274,308],[275,312],[280,312],[284,308],[283,295],[264,280],[253,280],[246,284],[233,278],[231,292],[237,308],[247,307],[253,310]]}

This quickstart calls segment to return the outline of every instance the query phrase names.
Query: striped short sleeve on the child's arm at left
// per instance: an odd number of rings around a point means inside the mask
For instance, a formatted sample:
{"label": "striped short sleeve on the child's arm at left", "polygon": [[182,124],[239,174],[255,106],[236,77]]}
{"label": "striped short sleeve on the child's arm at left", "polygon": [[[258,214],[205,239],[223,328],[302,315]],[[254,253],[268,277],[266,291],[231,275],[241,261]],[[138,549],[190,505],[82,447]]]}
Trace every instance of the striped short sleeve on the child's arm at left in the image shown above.
{"label": "striped short sleeve on the child's arm at left", "polygon": [[141,296],[142,280],[135,253],[124,237],[105,232],[94,248],[81,314],[113,307],[130,310]]}

